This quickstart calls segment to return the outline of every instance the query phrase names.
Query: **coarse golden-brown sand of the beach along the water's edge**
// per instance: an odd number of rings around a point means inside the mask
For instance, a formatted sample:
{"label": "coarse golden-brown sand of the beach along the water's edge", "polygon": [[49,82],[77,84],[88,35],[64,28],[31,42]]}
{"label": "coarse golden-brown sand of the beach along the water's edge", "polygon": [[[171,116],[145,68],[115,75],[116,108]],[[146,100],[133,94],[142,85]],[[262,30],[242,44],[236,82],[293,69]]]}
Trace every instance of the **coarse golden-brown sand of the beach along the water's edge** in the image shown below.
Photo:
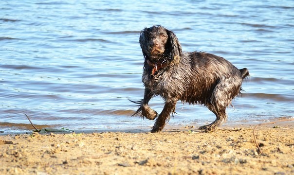
{"label": "coarse golden-brown sand of the beach along the water's edge", "polygon": [[294,122],[258,127],[261,155],[253,139],[254,126],[225,126],[214,133],[186,126],[160,133],[3,135],[0,174],[294,174]]}

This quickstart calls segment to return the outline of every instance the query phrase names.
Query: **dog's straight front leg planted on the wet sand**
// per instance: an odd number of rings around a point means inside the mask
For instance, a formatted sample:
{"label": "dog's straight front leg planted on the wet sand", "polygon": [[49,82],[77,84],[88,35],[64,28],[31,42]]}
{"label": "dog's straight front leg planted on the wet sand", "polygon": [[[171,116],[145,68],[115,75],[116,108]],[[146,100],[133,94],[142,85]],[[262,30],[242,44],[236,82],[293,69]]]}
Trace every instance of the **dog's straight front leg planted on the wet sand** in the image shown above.
{"label": "dog's straight front leg planted on the wet sand", "polygon": [[154,126],[152,127],[152,133],[159,132],[165,127],[165,122],[169,120],[170,113],[175,112],[176,103],[177,101],[165,102],[164,109],[159,114]]}

